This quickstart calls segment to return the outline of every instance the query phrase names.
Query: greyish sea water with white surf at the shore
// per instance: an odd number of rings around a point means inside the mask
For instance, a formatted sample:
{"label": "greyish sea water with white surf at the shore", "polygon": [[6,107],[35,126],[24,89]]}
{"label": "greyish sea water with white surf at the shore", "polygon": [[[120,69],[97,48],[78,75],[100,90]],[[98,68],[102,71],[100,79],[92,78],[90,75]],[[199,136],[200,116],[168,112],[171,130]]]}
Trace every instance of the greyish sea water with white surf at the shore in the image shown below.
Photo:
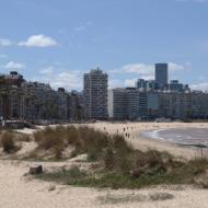
{"label": "greyish sea water with white surf at the shore", "polygon": [[141,136],[176,145],[208,148],[208,128],[147,130]]}

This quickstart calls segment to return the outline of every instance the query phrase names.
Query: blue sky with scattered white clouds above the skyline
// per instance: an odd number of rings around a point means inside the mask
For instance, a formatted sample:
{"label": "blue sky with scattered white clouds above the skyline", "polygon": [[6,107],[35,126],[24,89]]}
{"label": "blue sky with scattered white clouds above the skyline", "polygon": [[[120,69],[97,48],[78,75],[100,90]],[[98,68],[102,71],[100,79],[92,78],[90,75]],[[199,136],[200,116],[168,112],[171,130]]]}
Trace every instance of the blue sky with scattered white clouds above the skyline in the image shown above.
{"label": "blue sky with scattered white clouds above the skyline", "polygon": [[153,78],[208,90],[207,0],[0,0],[0,72],[82,89],[100,66],[109,86]]}

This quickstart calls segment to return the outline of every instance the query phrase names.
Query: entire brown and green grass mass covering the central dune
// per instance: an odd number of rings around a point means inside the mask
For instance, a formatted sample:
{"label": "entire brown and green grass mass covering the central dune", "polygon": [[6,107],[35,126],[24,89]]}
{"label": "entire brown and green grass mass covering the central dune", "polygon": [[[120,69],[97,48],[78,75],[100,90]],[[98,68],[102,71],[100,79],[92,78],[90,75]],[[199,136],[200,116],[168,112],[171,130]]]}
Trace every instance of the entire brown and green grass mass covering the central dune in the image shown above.
{"label": "entire brown and green grass mass covering the central dune", "polygon": [[74,148],[73,157],[86,153],[89,161],[97,161],[102,166],[93,170],[93,173],[73,167],[38,176],[61,184],[112,188],[196,184],[196,178],[208,170],[207,159],[185,162],[167,152],[157,150],[142,152],[135,150],[122,136],[109,136],[88,127],[46,128],[34,136],[38,148],[61,152],[70,145]]}

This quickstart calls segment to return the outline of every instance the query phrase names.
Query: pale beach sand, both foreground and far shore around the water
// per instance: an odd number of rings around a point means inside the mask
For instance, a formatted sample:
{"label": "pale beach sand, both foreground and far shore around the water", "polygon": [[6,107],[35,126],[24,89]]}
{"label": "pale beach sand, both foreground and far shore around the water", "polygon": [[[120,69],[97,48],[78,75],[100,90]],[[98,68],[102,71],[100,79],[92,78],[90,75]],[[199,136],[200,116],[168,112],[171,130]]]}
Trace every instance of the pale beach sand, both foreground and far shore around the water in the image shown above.
{"label": "pale beach sand, both foreground and far shore around the water", "polygon": [[[164,128],[207,128],[208,124],[183,124],[183,123],[95,123],[89,124],[90,127],[107,131],[108,134],[130,135],[127,140],[141,150],[154,148],[162,151],[169,151],[176,157],[192,159],[196,157],[196,150],[182,148],[173,143],[166,143],[157,140],[145,139],[140,137],[142,130],[164,129]],[[27,130],[30,134],[30,131]],[[25,161],[0,161],[0,207],[4,208],[97,208],[97,207],[140,207],[140,208],[206,208],[208,207],[208,190],[198,189],[192,186],[160,186],[143,188],[139,190],[127,189],[96,189],[80,188],[72,186],[57,185],[55,183],[42,182],[33,177],[23,176],[28,172],[28,166],[35,162]],[[45,169],[56,166],[69,166],[73,161],[66,162],[42,162]],[[173,196],[169,200],[151,200],[149,196],[158,193],[169,193]],[[113,203],[111,196],[140,196],[139,201]],[[101,198],[106,198],[105,203]],[[122,201],[122,200],[120,200]]]}

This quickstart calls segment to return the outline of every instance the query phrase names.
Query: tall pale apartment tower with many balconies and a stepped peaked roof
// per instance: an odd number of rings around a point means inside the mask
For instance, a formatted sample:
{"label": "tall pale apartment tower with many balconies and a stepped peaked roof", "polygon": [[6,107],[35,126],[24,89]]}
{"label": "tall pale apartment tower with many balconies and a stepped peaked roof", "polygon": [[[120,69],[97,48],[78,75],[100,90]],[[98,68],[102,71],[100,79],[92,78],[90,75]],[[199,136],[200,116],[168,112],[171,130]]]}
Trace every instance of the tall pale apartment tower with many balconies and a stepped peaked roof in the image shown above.
{"label": "tall pale apartment tower with many balconies and a stepped peaked roof", "polygon": [[90,119],[107,118],[108,76],[99,68],[84,73],[84,103]]}

